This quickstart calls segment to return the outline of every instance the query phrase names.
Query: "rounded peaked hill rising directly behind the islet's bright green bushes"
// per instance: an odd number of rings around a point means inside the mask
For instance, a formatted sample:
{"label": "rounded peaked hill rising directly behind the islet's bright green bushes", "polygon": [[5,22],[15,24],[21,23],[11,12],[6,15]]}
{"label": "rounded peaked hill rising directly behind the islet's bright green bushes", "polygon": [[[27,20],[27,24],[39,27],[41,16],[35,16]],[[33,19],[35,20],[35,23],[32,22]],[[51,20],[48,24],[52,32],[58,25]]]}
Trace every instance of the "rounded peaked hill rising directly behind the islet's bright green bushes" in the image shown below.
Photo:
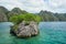
{"label": "rounded peaked hill rising directly behind the islet's bright green bushes", "polygon": [[24,13],[26,13],[26,11],[23,11],[20,8],[14,8],[8,13],[8,16],[10,18],[12,15],[24,14]]}

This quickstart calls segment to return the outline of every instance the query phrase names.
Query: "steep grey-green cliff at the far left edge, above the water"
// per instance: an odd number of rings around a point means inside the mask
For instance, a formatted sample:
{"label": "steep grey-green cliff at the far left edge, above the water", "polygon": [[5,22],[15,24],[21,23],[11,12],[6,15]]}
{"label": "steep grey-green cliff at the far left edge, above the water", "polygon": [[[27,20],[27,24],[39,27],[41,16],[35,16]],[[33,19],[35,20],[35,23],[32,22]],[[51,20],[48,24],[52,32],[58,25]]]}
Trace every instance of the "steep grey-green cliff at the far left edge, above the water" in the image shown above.
{"label": "steep grey-green cliff at the far left edge, above the water", "polygon": [[7,14],[8,14],[8,10],[3,7],[0,7],[0,22],[4,22],[8,21]]}

